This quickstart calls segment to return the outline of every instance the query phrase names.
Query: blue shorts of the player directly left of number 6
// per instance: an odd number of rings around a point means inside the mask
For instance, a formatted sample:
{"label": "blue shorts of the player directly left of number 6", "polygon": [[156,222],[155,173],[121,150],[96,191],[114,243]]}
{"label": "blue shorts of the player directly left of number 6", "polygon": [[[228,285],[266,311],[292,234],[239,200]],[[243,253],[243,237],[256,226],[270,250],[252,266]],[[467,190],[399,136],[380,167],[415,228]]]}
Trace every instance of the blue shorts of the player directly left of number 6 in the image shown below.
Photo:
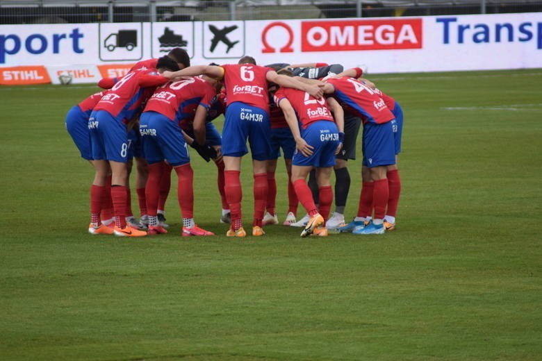
{"label": "blue shorts of the player directly left of number 6", "polygon": [[143,153],[150,165],[162,160],[167,160],[173,167],[190,162],[188,146],[176,121],[158,112],[143,112],[139,132]]}

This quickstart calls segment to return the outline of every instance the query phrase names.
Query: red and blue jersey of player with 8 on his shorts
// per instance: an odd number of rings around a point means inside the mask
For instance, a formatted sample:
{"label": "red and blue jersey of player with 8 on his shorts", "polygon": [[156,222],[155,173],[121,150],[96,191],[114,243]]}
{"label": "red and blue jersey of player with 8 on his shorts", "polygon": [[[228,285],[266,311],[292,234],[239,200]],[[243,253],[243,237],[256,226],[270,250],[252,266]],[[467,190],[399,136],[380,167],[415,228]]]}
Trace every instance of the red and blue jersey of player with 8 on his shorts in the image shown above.
{"label": "red and blue jersey of player with 8 on his shorts", "polygon": [[132,119],[154,91],[154,87],[169,81],[156,69],[128,72],[96,104],[95,110],[106,110],[117,119]]}

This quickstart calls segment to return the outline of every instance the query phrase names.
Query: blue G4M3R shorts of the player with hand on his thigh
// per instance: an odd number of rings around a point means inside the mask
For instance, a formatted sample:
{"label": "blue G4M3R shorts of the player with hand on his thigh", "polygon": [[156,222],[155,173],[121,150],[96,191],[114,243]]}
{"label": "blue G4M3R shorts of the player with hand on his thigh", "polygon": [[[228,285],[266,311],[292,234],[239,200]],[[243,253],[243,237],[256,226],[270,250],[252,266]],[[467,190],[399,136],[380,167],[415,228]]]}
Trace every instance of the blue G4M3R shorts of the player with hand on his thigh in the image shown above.
{"label": "blue G4M3R shorts of the player with hand on his thigh", "polygon": [[301,136],[307,144],[314,147],[313,155],[305,157],[295,151],[292,165],[313,167],[333,167],[335,165],[335,151],[339,144],[337,125],[333,121],[319,120],[302,129]]}

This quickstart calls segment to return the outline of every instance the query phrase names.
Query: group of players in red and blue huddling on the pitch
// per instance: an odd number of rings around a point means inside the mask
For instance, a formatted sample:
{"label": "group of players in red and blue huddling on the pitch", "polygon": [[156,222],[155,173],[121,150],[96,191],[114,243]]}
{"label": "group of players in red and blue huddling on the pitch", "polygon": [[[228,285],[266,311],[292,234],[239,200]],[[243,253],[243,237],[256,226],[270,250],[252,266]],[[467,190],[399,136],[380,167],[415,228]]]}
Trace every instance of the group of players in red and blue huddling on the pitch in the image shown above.
{"label": "group of players in red and blue huddling on the pitch", "polygon": [[[171,171],[183,218],[183,236],[214,235],[194,220],[193,171],[188,145],[217,167],[220,221],[228,237],[245,237],[241,159],[249,152],[254,175],[252,235],[279,224],[275,171],[282,149],[288,172],[284,225],[301,237],[328,230],[357,235],[395,229],[400,195],[402,110],[361,78],[362,70],[325,63],[190,66],[186,51],[138,62],[122,78],[99,81],[102,92],[69,110],[66,127],[81,156],[95,169],[90,188],[89,233],[139,237],[167,233],[165,199]],[[224,114],[222,135],[213,119]],[[350,190],[347,160],[355,159],[363,124],[362,187],[356,217],[345,223]],[[136,162],[140,219],[133,217],[129,175]],[[335,206],[330,217],[334,192]],[[307,181],[307,178],[309,180]],[[297,205],[306,215],[297,221]]]}

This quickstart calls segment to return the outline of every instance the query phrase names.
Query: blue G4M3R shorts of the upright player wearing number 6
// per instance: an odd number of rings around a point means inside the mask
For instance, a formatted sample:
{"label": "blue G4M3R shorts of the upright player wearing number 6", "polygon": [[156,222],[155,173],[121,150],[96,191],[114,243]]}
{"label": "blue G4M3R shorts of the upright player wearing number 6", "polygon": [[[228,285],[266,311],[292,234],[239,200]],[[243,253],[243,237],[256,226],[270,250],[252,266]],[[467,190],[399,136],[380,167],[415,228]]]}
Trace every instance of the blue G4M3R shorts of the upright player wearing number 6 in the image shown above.
{"label": "blue G4M3R shorts of the upright player wearing number 6", "polygon": [[222,154],[242,157],[248,153],[247,139],[254,160],[268,160],[271,156],[269,114],[261,108],[236,101],[226,108],[222,128]]}

